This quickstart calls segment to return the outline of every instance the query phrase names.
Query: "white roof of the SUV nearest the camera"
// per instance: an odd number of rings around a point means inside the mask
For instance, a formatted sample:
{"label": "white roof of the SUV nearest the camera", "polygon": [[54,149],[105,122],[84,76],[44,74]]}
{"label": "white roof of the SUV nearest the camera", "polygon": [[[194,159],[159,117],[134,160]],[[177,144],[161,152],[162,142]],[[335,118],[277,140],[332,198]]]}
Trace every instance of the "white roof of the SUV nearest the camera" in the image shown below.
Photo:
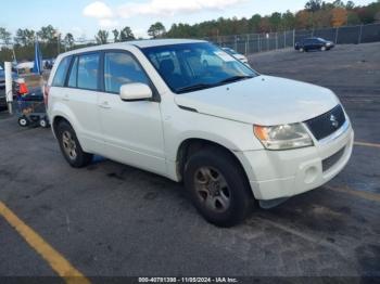
{"label": "white roof of the SUV nearest the camera", "polygon": [[138,48],[151,48],[151,47],[161,47],[161,46],[170,46],[170,44],[181,44],[181,43],[197,43],[197,42],[206,42],[205,40],[198,39],[143,39],[143,40],[131,40],[116,43],[107,43],[101,46],[93,46],[89,48],[76,49],[73,51],[68,51],[65,53],[61,53],[60,57],[64,57],[66,55],[81,53],[81,52],[90,52],[97,50],[104,49],[121,49],[126,46],[135,46]]}

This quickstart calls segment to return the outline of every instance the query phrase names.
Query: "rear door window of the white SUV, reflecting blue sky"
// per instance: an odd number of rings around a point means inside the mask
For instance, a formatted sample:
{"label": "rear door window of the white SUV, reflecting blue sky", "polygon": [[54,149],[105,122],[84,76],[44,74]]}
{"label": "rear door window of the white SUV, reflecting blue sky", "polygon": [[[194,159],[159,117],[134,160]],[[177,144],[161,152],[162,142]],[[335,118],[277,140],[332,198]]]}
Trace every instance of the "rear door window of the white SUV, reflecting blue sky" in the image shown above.
{"label": "rear door window of the white SUV, reflecting blue sky", "polygon": [[98,90],[99,53],[84,54],[78,60],[77,87]]}

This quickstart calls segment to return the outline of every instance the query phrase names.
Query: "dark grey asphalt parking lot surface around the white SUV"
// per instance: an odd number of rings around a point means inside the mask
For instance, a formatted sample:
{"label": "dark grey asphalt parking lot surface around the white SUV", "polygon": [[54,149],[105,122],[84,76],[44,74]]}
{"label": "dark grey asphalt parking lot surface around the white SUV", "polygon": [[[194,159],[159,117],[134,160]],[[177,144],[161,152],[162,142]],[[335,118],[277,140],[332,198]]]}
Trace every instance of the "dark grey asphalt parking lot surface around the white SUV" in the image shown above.
{"label": "dark grey asphalt parking lot surface around the white SUV", "polygon": [[[350,165],[327,185],[255,209],[239,227],[206,223],[182,185],[159,176],[100,157],[73,169],[50,130],[21,129],[4,114],[0,202],[94,282],[99,275],[379,280],[379,50],[373,43],[251,56],[261,73],[335,91],[356,145]],[[0,275],[56,275],[36,250],[0,216]]]}

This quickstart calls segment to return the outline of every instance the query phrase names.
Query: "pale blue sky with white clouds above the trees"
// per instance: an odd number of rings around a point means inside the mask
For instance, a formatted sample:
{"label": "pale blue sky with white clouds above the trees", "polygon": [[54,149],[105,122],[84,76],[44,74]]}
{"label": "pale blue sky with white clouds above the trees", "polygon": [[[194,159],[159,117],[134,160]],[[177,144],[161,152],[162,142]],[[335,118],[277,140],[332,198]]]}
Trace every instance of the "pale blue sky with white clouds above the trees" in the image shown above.
{"label": "pale blue sky with white clouds above the trees", "polygon": [[[364,5],[375,0],[354,0]],[[273,12],[296,12],[306,0],[2,0],[0,27],[38,30],[51,24],[63,35],[93,39],[99,29],[129,26],[136,37],[147,37],[151,24],[194,24],[223,17],[251,17]],[[331,1],[327,1],[331,2]]]}

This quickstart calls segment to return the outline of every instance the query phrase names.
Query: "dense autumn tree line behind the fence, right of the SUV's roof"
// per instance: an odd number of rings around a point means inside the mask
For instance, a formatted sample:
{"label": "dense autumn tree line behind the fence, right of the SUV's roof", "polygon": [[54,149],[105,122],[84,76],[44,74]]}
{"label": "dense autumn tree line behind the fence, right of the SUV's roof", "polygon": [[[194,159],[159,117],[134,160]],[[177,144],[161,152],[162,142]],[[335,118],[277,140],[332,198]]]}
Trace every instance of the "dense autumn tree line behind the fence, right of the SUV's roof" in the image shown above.
{"label": "dense autumn tree line behind the fence, right of the SUV's roof", "polygon": [[313,29],[380,23],[380,0],[368,5],[357,7],[353,1],[321,0],[307,1],[305,8],[296,13],[275,12],[250,18],[224,18],[206,21],[194,25],[173,24],[166,37],[218,37],[243,34],[276,33],[290,29]]}

